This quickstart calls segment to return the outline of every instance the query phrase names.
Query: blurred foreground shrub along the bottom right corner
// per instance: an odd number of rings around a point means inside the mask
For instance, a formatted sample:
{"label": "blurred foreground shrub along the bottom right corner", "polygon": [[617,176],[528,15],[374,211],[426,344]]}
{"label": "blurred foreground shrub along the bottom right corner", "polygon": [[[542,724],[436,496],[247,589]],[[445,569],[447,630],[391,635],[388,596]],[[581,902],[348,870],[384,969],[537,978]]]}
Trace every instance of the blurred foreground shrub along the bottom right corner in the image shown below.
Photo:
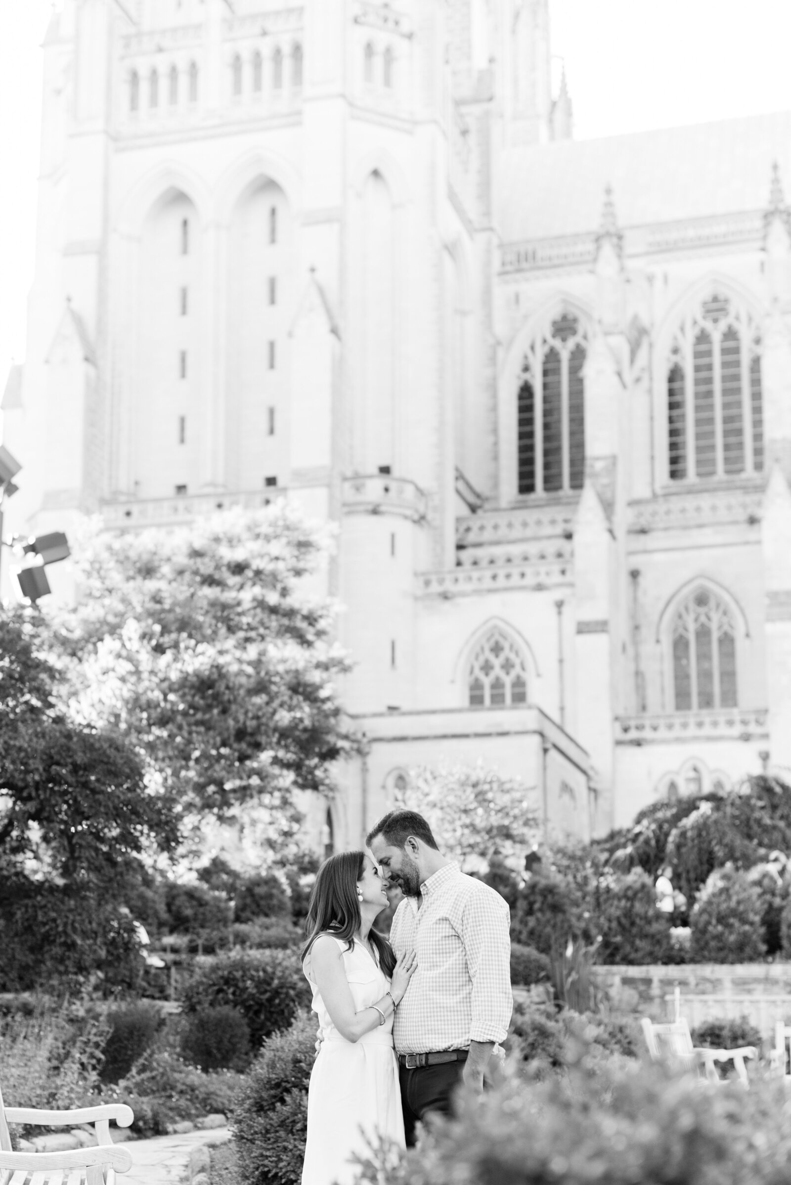
{"label": "blurred foreground shrub along the bottom right corner", "polygon": [[701,1089],[658,1065],[584,1058],[566,1077],[462,1094],[394,1170],[373,1158],[369,1185],[778,1185],[791,1123],[782,1082]]}

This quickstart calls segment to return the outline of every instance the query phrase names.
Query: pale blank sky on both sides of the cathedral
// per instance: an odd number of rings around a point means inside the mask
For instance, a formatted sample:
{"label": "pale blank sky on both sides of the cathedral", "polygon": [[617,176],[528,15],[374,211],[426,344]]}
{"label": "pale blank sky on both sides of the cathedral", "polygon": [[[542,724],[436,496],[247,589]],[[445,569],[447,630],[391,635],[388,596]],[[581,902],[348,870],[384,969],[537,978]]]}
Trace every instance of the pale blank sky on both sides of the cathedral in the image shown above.
{"label": "pale blank sky on both sides of the cathedral", "polygon": [[[0,0],[0,384],[25,356],[51,7]],[[549,14],[578,139],[791,108],[791,0],[549,0]]]}

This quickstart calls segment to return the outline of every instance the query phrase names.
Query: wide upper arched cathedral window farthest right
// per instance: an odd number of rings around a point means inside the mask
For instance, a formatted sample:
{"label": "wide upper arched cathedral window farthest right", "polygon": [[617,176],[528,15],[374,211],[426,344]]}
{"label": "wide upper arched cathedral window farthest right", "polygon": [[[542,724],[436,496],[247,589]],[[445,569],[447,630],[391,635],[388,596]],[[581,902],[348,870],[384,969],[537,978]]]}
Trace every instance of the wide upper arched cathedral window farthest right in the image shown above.
{"label": "wide upper arched cathedral window farthest right", "polygon": [[683,319],[668,358],[671,481],[764,468],[760,334],[748,310],[713,295]]}

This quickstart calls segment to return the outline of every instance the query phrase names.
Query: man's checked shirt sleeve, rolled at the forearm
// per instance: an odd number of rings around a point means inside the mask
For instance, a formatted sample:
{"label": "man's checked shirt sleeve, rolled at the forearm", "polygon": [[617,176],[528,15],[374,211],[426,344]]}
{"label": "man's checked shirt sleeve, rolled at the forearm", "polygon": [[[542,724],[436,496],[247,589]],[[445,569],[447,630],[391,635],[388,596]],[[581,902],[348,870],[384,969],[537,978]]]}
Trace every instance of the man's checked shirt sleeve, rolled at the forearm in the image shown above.
{"label": "man's checked shirt sleeve, rolled at the forearm", "polygon": [[470,1040],[503,1042],[514,1007],[510,989],[510,910],[491,892],[471,893],[462,915],[462,940],[472,980]]}

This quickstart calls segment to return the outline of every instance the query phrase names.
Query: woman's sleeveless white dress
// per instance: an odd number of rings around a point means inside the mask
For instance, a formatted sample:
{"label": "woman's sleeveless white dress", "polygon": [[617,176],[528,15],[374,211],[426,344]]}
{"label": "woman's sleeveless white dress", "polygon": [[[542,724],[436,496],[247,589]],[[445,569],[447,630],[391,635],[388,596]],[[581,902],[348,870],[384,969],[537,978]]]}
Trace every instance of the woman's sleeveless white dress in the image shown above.
{"label": "woman's sleeveless white dress", "polygon": [[[349,981],[354,1008],[378,1004],[390,988],[373,955],[361,942],[347,949],[335,939]],[[319,988],[310,979],[310,956],[306,975],[313,988],[313,1011],[319,1017],[321,1049],[310,1075],[308,1091],[308,1141],[302,1168],[302,1185],[352,1185],[359,1167],[349,1157],[369,1155],[371,1142],[379,1136],[405,1147],[404,1116],[398,1085],[398,1062],[393,1050],[393,1018],[387,1017],[358,1042],[346,1040],[333,1024]]]}

